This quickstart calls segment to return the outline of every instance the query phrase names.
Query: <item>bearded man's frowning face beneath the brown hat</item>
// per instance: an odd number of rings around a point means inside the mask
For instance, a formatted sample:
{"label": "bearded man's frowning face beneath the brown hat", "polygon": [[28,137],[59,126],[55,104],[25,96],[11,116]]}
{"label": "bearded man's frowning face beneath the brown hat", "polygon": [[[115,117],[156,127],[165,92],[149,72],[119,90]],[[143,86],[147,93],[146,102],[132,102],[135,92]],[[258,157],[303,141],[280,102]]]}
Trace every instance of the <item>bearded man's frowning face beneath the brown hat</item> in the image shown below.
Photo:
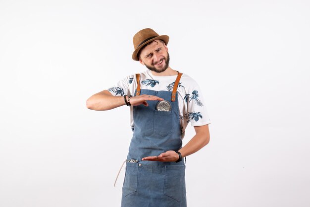
{"label": "bearded man's frowning face beneath the brown hat", "polygon": [[169,67],[167,46],[160,40],[153,41],[140,52],[140,63],[155,72],[163,72]]}

